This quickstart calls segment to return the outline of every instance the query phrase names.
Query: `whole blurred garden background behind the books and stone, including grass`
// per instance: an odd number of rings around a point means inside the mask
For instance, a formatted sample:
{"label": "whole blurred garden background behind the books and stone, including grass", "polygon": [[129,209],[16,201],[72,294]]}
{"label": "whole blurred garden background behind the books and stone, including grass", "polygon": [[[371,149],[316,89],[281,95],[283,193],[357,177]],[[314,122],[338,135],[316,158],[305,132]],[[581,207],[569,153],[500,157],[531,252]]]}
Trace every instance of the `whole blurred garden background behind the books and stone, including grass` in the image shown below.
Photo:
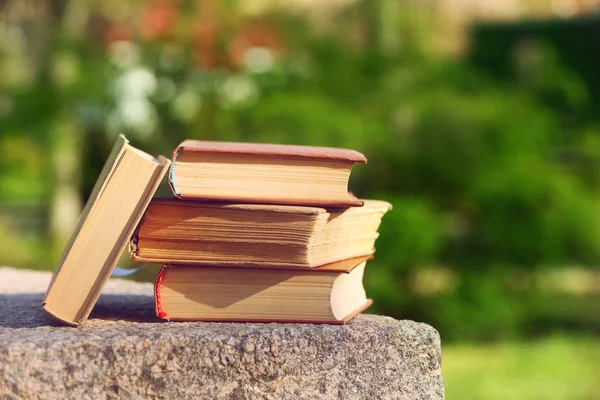
{"label": "whole blurred garden background behind the books and stone, including grass", "polygon": [[447,398],[600,399],[600,0],[0,15],[0,265],[54,269],[119,133],[167,156],[186,138],[353,148],[351,189],[394,205],[371,312],[440,331]]}

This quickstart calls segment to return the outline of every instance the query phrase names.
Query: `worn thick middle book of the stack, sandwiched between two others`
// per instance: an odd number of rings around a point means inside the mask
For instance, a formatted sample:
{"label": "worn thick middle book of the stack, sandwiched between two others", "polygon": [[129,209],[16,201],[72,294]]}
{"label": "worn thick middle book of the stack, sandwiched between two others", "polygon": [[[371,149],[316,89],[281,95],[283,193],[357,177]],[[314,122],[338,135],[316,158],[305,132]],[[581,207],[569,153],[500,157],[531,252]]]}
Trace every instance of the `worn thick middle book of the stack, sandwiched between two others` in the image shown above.
{"label": "worn thick middle book of the stack, sandwiched between two others", "polygon": [[131,259],[157,264],[313,268],[373,254],[385,201],[324,209],[152,200]]}

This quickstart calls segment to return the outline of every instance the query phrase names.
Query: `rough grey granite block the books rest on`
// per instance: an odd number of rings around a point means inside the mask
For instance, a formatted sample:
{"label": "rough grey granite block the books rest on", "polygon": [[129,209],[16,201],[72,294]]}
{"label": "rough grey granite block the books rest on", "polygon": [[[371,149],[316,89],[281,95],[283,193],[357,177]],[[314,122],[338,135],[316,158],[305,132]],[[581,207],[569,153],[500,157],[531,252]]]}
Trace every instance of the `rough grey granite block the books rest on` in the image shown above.
{"label": "rough grey granite block the books rest on", "polygon": [[0,399],[443,399],[440,339],[412,321],[168,323],[111,280],[81,328],[40,309],[50,274],[0,268]]}

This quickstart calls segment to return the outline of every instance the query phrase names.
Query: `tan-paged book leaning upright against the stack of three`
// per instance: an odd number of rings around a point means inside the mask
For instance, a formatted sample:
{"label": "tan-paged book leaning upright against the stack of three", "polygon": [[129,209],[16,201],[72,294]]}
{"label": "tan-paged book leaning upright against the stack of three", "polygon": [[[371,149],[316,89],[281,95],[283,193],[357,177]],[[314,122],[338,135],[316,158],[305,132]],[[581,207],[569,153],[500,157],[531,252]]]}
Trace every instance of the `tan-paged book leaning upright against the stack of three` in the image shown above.
{"label": "tan-paged book leaning upright against the stack of three", "polygon": [[169,165],[119,136],[46,292],[48,314],[69,325],[87,319]]}

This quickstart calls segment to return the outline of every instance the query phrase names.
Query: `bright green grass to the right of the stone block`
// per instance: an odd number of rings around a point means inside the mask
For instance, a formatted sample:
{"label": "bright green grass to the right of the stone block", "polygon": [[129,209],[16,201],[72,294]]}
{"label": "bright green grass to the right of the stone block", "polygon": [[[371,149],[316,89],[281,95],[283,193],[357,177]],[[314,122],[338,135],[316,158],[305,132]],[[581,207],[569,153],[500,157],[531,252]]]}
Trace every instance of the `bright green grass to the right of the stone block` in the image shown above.
{"label": "bright green grass to the right of the stone block", "polygon": [[448,400],[600,400],[600,339],[443,346]]}

